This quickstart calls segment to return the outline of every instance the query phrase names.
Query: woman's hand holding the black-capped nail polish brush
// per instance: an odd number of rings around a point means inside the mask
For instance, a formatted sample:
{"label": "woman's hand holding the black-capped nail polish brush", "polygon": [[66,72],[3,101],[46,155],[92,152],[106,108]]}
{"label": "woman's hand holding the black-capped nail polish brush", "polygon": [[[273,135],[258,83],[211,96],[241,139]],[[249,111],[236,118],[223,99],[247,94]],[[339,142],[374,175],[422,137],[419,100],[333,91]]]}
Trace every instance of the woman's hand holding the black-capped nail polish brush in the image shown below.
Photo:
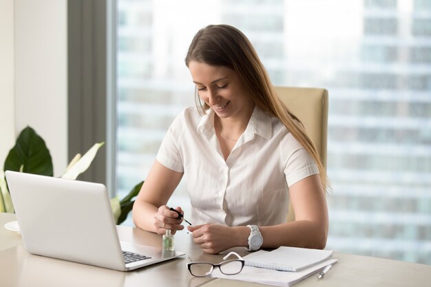
{"label": "woman's hand holding the black-capped nail polish brush", "polygon": [[[176,211],[181,214],[184,214],[180,206],[177,206]],[[176,231],[184,229],[182,226],[182,218],[180,220],[178,218],[178,213],[175,211],[169,210],[169,207],[166,205],[162,205],[158,208],[156,215],[154,215],[154,226],[156,227],[156,233],[163,235],[166,232],[166,229],[171,230],[171,234],[175,234]]]}

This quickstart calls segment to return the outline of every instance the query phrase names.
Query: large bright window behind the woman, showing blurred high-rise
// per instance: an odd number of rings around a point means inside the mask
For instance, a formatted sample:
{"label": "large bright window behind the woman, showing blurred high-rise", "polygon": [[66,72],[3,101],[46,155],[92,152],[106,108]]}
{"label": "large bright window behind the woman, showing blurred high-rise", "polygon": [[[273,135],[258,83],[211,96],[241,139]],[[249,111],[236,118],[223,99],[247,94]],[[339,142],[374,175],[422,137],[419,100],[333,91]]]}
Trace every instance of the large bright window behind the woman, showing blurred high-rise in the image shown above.
{"label": "large bright window behind the woman, showing blurred high-rise", "polygon": [[[192,37],[228,23],[275,85],[329,90],[327,248],[431,264],[429,3],[118,0],[119,195],[145,179],[171,121],[194,105]],[[187,212],[184,183],[171,204]]]}

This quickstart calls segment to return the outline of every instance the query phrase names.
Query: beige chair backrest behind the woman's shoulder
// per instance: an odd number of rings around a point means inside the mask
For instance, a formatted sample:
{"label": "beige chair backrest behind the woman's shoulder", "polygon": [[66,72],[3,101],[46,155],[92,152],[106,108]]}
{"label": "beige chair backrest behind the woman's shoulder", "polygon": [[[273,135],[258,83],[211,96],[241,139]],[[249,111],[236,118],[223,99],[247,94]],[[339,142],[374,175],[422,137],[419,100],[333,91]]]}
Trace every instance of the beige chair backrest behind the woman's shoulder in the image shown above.
{"label": "beige chair backrest behind the woman's shoulder", "polygon": [[[328,91],[308,87],[275,87],[275,91],[288,109],[304,124],[326,169]],[[292,204],[289,204],[287,222],[293,220],[295,220],[295,213]]]}

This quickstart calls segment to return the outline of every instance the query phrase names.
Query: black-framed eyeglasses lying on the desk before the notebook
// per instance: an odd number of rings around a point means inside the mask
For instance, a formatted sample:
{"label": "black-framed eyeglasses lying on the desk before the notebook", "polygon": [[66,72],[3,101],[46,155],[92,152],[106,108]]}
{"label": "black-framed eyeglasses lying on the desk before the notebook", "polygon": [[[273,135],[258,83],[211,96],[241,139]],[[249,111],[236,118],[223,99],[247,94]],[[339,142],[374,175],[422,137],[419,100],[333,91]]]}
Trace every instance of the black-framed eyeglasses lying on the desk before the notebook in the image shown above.
{"label": "black-framed eyeglasses lying on the desk before the notebook", "polygon": [[235,255],[238,259],[227,260],[220,262],[219,264],[212,264],[209,262],[192,262],[190,257],[187,257],[187,269],[190,274],[195,277],[205,277],[213,273],[215,267],[220,269],[220,272],[224,275],[235,275],[241,272],[244,267],[244,259],[235,252],[231,252],[223,257],[226,260],[229,256]]}

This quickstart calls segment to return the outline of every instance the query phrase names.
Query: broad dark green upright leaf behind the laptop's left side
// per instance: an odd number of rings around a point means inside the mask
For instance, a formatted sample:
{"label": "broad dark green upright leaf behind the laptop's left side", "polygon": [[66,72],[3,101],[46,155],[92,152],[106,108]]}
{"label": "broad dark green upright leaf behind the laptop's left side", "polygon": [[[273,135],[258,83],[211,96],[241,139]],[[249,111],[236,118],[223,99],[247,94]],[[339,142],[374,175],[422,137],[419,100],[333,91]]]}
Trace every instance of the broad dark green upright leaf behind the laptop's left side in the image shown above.
{"label": "broad dark green upright leaf behind the laptop's left side", "polygon": [[31,127],[25,127],[10,149],[4,164],[5,171],[22,171],[25,173],[52,176],[52,158],[45,141]]}

